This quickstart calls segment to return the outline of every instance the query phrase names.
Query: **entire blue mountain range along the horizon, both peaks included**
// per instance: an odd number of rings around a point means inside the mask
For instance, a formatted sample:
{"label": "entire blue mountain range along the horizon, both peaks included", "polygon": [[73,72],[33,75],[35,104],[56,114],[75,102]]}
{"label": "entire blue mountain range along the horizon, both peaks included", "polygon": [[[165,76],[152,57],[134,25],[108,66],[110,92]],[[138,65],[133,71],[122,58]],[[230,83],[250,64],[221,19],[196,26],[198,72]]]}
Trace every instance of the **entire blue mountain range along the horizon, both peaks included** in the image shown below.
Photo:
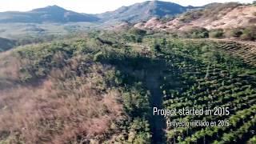
{"label": "entire blue mountain range along the horizon, both peaks included", "polygon": [[0,12],[3,22],[140,22],[153,17],[163,18],[182,14],[197,7],[181,6],[174,2],[146,1],[122,6],[117,10],[102,14],[84,14],[66,10],[60,6],[46,6],[34,10],[19,12]]}

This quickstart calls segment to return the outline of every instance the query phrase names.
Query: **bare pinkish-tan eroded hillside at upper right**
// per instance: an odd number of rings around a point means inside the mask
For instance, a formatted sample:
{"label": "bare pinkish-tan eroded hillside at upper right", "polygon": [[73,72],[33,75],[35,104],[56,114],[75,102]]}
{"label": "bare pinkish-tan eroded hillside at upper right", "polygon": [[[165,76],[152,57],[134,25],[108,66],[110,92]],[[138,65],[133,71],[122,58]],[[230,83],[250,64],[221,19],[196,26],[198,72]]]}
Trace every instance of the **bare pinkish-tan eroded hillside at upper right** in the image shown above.
{"label": "bare pinkish-tan eroded hillside at upper right", "polygon": [[255,25],[256,6],[242,5],[235,2],[213,3],[204,9],[192,10],[178,18],[162,22],[161,19],[151,18],[147,22],[139,22],[135,27],[153,30],[190,30],[194,27],[212,29],[234,29]]}

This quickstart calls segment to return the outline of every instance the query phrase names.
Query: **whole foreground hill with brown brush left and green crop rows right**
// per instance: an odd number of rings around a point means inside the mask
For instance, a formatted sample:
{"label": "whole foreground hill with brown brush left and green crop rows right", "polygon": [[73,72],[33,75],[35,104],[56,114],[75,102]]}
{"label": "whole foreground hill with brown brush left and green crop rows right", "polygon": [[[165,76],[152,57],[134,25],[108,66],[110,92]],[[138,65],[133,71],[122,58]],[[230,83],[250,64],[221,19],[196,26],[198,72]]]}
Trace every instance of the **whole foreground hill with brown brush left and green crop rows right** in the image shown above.
{"label": "whole foreground hill with brown brush left and green crop rows right", "polygon": [[[253,142],[255,47],[160,35],[98,31],[0,53],[0,143]],[[198,120],[229,125],[167,125]]]}

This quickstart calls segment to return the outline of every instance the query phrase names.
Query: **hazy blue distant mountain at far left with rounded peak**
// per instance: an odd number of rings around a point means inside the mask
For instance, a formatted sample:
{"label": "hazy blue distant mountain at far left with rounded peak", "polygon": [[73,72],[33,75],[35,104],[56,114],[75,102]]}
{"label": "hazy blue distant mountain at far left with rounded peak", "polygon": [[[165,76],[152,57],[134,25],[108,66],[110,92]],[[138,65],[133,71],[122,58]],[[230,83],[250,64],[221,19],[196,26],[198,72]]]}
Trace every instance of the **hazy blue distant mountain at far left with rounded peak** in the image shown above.
{"label": "hazy blue distant mountain at far left with rounded peak", "polygon": [[59,6],[47,6],[27,12],[2,12],[0,22],[95,22],[92,14],[79,14]]}

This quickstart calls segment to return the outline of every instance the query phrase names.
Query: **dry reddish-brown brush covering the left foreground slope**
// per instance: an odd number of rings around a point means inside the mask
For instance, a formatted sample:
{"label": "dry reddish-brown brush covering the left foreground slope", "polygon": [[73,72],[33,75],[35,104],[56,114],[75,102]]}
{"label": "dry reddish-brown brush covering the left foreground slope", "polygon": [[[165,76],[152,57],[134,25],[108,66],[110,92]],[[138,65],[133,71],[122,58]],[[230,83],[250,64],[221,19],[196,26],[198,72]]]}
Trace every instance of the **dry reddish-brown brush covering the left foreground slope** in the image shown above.
{"label": "dry reddish-brown brush covering the left foreground slope", "polygon": [[[86,74],[78,75],[74,70],[82,59],[72,58],[69,65],[51,70],[37,85],[23,86],[18,81],[24,60],[10,55],[6,52],[0,58],[1,142],[100,142],[123,117],[120,94],[103,86],[104,74],[113,68],[94,64]],[[62,54],[55,59],[62,59]]]}

